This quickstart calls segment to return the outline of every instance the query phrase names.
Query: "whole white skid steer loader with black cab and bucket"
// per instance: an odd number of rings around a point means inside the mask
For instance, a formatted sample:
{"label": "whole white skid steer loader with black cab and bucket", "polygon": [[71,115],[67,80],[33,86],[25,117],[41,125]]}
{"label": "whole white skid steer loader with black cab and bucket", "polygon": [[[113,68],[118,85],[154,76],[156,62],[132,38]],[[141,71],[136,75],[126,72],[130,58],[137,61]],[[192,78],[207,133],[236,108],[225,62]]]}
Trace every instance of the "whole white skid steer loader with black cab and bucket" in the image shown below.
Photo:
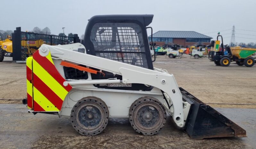
{"label": "whole white skid steer loader with black cab and bucket", "polygon": [[27,59],[29,112],[70,116],[85,136],[104,131],[109,118],[128,118],[136,132],[151,136],[171,116],[195,139],[245,137],[244,129],[179,88],[173,74],[153,67],[146,30],[152,19],[94,16],[84,45],[43,44]]}

